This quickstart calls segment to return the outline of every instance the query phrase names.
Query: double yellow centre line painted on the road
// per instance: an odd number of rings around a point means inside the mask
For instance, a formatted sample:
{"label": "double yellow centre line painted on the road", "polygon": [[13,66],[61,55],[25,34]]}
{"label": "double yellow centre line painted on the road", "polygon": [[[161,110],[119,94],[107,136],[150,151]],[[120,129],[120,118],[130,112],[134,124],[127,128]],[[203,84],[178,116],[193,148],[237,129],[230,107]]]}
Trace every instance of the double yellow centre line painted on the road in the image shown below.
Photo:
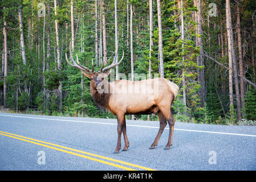
{"label": "double yellow centre line painted on the road", "polygon": [[[42,140],[37,140],[37,139],[29,138],[29,137],[23,137],[21,135],[15,135],[15,134],[7,133],[7,132],[4,132],[4,131],[0,131],[0,135],[4,135],[6,137],[15,138],[15,139],[22,140],[22,141],[29,142],[29,143],[34,143],[34,144],[37,144],[39,146],[51,148],[51,149],[54,149],[54,150],[66,152],[68,154],[72,154],[72,155],[76,155],[76,156],[79,156],[79,157],[82,157],[82,158],[94,160],[96,162],[107,164],[109,166],[114,166],[114,167],[117,167],[117,168],[126,169],[128,171],[136,171],[136,169],[125,167],[125,166],[121,166],[120,164],[125,164],[126,166],[135,167],[135,168],[139,168],[139,169],[143,169],[143,170],[149,170],[149,171],[155,170],[155,169],[139,166],[139,165],[136,165],[136,164],[123,162],[121,160],[116,160],[116,159],[108,158],[108,157],[105,157],[105,156],[96,155],[96,154],[92,154],[92,153],[89,153],[89,152],[84,152],[84,151],[81,151],[81,150],[76,150],[74,148],[64,147],[64,146],[60,146],[58,144],[44,142]],[[38,143],[38,142],[40,142],[40,143]],[[57,148],[57,147],[59,147],[59,148]],[[64,150],[62,148],[66,149],[66,150]],[[72,151],[74,151],[74,152],[72,152]],[[78,154],[76,152],[79,152],[81,154]],[[83,155],[83,154],[86,154],[86,155]],[[94,156],[96,158],[92,158],[92,157],[90,157],[88,155]],[[97,158],[100,158],[100,159],[97,159]],[[101,159],[109,160],[111,162],[116,162],[116,163],[119,163],[119,164],[107,162],[107,161],[101,160]]]}

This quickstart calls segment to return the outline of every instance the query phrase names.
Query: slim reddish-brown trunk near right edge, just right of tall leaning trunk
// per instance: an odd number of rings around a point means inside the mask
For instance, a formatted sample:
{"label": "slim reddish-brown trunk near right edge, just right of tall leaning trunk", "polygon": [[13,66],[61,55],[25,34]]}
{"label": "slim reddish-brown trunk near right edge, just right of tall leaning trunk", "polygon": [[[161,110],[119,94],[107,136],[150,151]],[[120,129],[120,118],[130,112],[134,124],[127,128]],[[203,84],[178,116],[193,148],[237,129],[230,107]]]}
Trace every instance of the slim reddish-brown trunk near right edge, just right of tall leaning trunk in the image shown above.
{"label": "slim reddish-brown trunk near right edge, just right of tall leaning trunk", "polygon": [[[238,54],[239,54],[239,72],[243,75],[243,57],[242,57],[242,43],[241,43],[241,23],[240,23],[240,7],[237,4],[237,42],[238,42]],[[245,82],[240,78],[240,92],[241,92],[241,107],[245,107]],[[245,115],[245,113],[242,113]]]}

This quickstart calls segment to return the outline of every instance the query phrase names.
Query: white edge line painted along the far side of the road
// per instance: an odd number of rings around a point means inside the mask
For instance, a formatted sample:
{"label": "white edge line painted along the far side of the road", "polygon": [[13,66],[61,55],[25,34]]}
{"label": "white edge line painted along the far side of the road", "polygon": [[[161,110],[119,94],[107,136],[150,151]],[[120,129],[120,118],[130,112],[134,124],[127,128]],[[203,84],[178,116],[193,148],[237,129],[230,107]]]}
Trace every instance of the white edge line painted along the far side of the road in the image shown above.
{"label": "white edge line painted along the far side of the road", "polygon": [[[53,118],[39,118],[39,117],[25,117],[20,115],[7,115],[7,114],[0,114],[6,117],[17,117],[17,118],[30,118],[30,119],[44,119],[44,120],[52,120],[52,121],[69,121],[69,122],[80,122],[80,123],[96,123],[96,124],[103,124],[103,125],[117,125],[117,123],[105,123],[105,122],[93,122],[93,121],[76,121],[76,120],[68,120],[68,119],[53,119]],[[159,129],[156,126],[142,126],[142,125],[126,125],[126,126],[134,126],[134,127],[148,127],[153,129]],[[169,128],[165,128],[168,130]],[[201,132],[201,133],[213,133],[213,134],[224,134],[224,135],[237,135],[237,136],[245,136],[245,137],[256,137],[256,135],[248,135],[248,134],[238,134],[238,133],[223,133],[217,131],[202,131],[202,130],[188,130],[188,129],[175,129],[180,131],[192,131],[192,132]]]}

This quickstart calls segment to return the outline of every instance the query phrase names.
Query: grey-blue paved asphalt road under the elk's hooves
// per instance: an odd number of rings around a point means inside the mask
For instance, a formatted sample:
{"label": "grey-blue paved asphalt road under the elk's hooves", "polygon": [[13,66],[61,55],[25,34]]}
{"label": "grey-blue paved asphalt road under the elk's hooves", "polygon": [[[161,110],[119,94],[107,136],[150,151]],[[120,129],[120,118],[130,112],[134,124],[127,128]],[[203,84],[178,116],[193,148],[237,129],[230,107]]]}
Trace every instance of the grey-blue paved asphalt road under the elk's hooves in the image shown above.
{"label": "grey-blue paved asphalt road under the elk's hooves", "polygon": [[0,170],[256,170],[254,126],[176,122],[171,150],[169,129],[149,150],[158,128],[127,121],[129,150],[113,154],[115,119],[0,113]]}

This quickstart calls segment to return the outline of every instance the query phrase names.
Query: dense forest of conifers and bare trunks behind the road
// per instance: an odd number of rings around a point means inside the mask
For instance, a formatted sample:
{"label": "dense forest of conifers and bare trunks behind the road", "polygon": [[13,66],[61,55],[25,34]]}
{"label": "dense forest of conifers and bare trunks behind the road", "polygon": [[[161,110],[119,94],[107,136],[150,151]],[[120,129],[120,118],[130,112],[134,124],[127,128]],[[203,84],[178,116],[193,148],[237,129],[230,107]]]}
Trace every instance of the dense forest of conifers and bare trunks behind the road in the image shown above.
{"label": "dense forest of conifers and bare trunks behind the road", "polygon": [[[88,78],[65,59],[180,86],[178,121],[256,120],[255,0],[1,1],[0,105],[5,110],[114,118],[91,98]],[[134,78],[132,78],[134,79]],[[132,117],[132,116],[127,116]],[[157,120],[154,115],[135,119]]]}

